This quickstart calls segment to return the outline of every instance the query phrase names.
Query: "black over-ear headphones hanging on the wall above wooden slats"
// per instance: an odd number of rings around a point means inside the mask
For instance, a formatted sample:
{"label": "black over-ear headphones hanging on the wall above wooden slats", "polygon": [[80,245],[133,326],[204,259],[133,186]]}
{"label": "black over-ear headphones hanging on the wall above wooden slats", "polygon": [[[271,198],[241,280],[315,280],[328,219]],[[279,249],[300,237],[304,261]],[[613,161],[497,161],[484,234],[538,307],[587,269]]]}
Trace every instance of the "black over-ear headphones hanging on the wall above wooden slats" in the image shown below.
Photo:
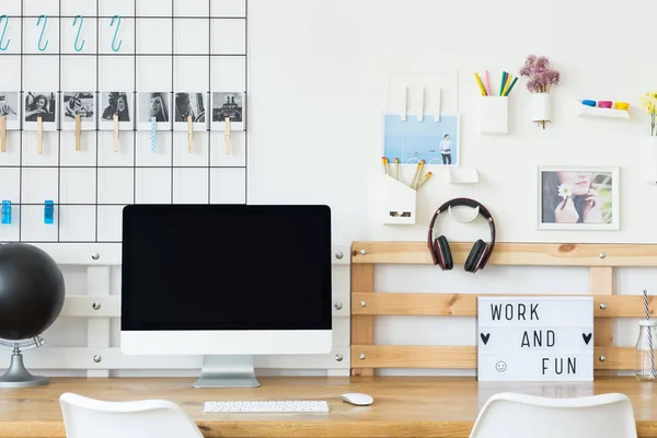
{"label": "black over-ear headphones hanging on the wall above wooden slats", "polygon": [[449,243],[447,242],[445,235],[440,235],[438,239],[434,240],[434,224],[436,223],[436,220],[440,214],[447,211],[450,207],[458,206],[472,208],[479,207],[479,215],[483,216],[484,219],[488,221],[488,226],[491,227],[491,243],[487,244],[483,240],[479,239],[476,242],[474,242],[474,245],[472,246],[472,250],[470,250],[470,254],[465,260],[465,272],[474,274],[486,266],[486,263],[493,253],[493,249],[495,247],[495,221],[493,220],[493,216],[491,216],[491,212],[486,209],[486,207],[476,200],[470,198],[456,198],[442,204],[431,218],[427,244],[431,253],[431,258],[434,260],[434,265],[439,265],[442,270],[450,270],[453,267],[453,261],[451,251],[449,249]]}

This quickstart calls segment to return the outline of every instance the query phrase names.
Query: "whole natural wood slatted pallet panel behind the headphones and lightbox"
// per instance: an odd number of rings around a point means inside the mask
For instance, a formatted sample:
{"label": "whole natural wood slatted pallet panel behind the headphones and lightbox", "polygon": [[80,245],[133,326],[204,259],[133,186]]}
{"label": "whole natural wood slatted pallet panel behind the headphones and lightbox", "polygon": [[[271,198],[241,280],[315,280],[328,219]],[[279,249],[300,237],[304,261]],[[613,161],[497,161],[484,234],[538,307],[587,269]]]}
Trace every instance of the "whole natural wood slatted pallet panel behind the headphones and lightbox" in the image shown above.
{"label": "whole natural wood slatted pallet panel behind the headphones and lightbox", "polygon": [[[454,265],[462,265],[472,243],[450,243],[450,249]],[[377,368],[476,368],[475,346],[374,345],[377,315],[476,316],[476,295],[374,293],[374,268],[387,264],[433,262],[426,242],[353,243],[351,374],[373,376]],[[613,345],[612,319],[644,318],[643,296],[614,296],[613,268],[657,267],[657,245],[497,243],[491,265],[589,267],[589,293],[595,301],[596,374],[634,369],[634,348]],[[652,297],[649,307],[650,314],[655,314]]]}

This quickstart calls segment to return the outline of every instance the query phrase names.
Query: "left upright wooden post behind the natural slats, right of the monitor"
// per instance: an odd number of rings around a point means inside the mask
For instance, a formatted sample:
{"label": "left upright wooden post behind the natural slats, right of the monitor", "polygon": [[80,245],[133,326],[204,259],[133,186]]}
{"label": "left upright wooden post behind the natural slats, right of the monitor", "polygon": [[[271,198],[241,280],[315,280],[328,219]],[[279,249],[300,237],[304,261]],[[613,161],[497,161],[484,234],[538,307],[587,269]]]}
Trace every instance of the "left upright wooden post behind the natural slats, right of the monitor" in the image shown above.
{"label": "left upright wooden post behind the natural slats, right of the monitor", "polygon": [[[351,291],[374,295],[374,265],[351,265]],[[351,302],[354,299],[351,299]],[[356,303],[358,304],[358,303]],[[374,343],[374,316],[351,316],[351,344],[371,345]],[[353,367],[353,376],[373,376],[373,368]]]}

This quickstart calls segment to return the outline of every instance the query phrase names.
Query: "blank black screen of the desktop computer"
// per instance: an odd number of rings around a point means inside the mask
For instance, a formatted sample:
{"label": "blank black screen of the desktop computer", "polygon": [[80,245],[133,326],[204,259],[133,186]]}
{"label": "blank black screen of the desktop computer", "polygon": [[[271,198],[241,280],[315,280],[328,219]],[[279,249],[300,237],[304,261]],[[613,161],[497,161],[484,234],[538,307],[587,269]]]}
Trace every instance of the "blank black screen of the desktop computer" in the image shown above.
{"label": "blank black screen of the desktop computer", "polygon": [[326,206],[124,208],[123,331],[331,330]]}

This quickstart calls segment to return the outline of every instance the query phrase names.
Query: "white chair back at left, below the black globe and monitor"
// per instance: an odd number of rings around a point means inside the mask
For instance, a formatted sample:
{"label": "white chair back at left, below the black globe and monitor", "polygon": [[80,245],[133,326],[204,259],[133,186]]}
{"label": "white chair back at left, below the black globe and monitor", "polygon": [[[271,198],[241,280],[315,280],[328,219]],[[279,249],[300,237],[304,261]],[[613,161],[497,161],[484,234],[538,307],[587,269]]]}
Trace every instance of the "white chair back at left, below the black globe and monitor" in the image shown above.
{"label": "white chair back at left, below the black globe and monitor", "polygon": [[68,438],[203,438],[183,410],[165,400],[105,402],[67,392],[59,403]]}

